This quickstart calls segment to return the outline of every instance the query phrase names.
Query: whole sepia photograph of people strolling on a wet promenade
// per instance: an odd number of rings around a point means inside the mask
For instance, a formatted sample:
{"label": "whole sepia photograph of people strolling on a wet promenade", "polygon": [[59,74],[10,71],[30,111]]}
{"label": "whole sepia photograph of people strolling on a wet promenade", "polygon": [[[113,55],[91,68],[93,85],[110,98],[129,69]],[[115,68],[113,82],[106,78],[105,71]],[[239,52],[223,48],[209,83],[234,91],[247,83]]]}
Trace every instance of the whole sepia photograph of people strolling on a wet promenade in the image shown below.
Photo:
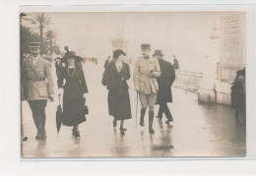
{"label": "whole sepia photograph of people strolling on a wet promenade", "polygon": [[245,19],[21,11],[21,157],[246,157]]}

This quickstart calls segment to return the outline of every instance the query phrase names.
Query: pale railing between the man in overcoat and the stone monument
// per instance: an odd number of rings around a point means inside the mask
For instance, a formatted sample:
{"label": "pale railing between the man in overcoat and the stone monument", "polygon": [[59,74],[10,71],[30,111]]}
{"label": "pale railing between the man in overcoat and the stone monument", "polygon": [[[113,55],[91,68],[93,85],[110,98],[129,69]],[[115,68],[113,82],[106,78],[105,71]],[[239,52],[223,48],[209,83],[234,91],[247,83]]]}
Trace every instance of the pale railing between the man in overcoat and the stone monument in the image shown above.
{"label": "pale railing between the man in overcoat and the stone monument", "polygon": [[175,75],[176,79],[172,88],[197,93],[203,73],[176,71]]}

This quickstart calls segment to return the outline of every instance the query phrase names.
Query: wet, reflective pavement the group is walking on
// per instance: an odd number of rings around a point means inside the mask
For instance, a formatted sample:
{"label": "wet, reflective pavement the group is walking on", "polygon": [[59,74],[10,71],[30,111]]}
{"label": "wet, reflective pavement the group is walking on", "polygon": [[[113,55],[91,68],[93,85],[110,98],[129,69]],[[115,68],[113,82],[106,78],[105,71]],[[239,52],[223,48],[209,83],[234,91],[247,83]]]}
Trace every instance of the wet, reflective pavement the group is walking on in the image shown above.
{"label": "wet, reflective pavement the group is walking on", "polygon": [[[28,141],[22,142],[23,157],[246,155],[245,126],[235,125],[234,110],[220,104],[199,104],[196,94],[185,91],[173,89],[174,102],[168,105],[174,122],[166,125],[165,118],[162,121],[156,118],[156,134],[149,134],[148,114],[145,118],[146,126],[141,127],[138,111],[136,125],[136,92],[133,90],[132,79],[129,86],[133,119],[125,121],[127,131],[125,136],[120,135],[119,122],[116,129],[113,129],[112,117],[108,115],[107,91],[101,85],[102,71],[101,65],[85,65],[90,91],[87,96],[90,114],[87,115],[87,122],[80,125],[80,139],[72,137],[71,127],[62,126],[57,134],[56,97],[46,107],[47,139],[36,141],[30,106],[27,101],[22,102],[24,137],[28,137]],[[158,111],[158,106],[155,111]]]}

